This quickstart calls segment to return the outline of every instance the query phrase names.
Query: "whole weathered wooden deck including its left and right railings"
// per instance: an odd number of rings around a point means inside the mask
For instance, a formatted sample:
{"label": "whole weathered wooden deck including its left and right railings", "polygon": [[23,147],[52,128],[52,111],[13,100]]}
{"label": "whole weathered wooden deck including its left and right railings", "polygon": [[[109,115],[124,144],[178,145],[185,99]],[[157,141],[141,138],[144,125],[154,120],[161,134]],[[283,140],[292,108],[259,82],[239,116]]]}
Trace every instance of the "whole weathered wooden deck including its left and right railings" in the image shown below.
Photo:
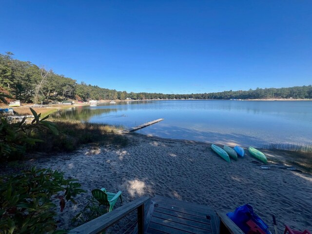
{"label": "whole weathered wooden deck including its left and right railings", "polygon": [[103,233],[135,210],[137,220],[130,227],[129,223],[120,227],[118,234],[244,234],[224,213],[216,215],[208,206],[162,196],[137,198],[70,230],[69,234]]}

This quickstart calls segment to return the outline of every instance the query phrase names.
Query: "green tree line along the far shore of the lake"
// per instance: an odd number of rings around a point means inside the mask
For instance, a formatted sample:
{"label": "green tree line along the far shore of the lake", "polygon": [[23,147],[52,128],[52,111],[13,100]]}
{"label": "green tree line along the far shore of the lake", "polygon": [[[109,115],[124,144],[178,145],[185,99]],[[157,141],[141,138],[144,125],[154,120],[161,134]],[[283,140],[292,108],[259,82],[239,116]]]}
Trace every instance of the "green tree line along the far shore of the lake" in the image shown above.
{"label": "green tree line along the far shore of the lake", "polygon": [[58,75],[29,61],[13,59],[13,53],[0,54],[0,91],[8,92],[23,102],[142,99],[262,99],[312,98],[312,86],[290,88],[257,88],[248,91],[223,91],[204,94],[127,93],[105,89],[97,85],[77,83],[75,79]]}

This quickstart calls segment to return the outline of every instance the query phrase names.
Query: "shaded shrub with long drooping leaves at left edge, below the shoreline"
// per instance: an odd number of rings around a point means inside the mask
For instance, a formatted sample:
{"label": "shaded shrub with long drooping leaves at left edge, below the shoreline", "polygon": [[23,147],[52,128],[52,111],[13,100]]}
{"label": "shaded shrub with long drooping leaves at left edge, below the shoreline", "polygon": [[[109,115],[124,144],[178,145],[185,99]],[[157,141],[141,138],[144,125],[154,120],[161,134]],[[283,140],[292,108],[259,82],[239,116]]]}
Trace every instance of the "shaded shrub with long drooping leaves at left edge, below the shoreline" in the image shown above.
{"label": "shaded shrub with long drooping leaves at left edge, below the shoreline", "polygon": [[0,116],[0,161],[18,159],[24,155],[27,148],[37,142],[44,142],[42,139],[33,137],[34,131],[51,131],[58,135],[57,125],[46,120],[49,116],[40,118],[32,108],[33,121],[28,124],[24,117],[20,123],[9,123],[8,116]]}

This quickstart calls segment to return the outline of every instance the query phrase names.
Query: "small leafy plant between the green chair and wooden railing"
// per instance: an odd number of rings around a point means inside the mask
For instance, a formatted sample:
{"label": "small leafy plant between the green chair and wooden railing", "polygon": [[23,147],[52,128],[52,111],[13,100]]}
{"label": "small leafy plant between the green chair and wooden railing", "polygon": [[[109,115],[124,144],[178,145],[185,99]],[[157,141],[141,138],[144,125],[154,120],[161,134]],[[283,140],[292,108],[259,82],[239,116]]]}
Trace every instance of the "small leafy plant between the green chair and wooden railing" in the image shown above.
{"label": "small leafy plant between the green chair and wooden railing", "polygon": [[99,202],[94,197],[91,197],[83,210],[72,219],[72,224],[79,226],[106,213],[107,207],[100,206]]}

